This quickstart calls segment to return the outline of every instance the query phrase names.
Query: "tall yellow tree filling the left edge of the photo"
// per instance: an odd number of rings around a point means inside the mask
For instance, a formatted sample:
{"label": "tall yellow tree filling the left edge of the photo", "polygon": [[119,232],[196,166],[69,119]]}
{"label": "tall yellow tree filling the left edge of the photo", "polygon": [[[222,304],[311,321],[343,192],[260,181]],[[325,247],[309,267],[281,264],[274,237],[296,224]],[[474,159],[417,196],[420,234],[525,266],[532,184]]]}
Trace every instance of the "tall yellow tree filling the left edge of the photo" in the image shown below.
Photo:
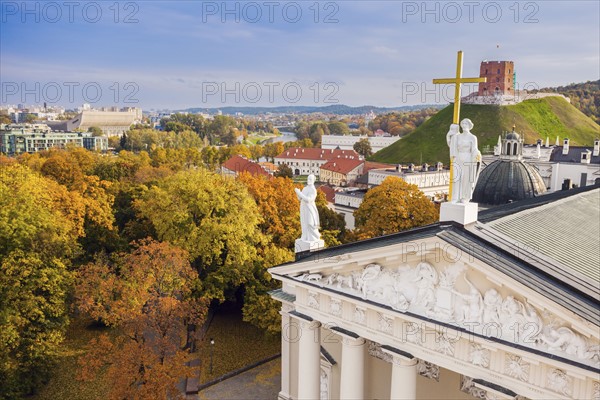
{"label": "tall yellow tree filling the left edge of the photo", "polygon": [[0,171],[0,397],[48,378],[68,323],[70,260],[83,234],[81,198],[28,167]]}

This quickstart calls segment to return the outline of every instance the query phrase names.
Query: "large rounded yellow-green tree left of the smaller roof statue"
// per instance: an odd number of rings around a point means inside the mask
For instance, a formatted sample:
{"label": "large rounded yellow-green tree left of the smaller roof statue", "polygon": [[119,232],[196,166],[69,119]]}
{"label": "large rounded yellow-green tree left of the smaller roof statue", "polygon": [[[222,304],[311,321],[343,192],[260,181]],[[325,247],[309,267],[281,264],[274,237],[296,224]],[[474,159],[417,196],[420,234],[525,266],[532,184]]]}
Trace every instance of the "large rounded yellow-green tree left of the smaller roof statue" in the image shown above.
{"label": "large rounded yellow-green tree left of the smaller roof statue", "polygon": [[181,171],[151,186],[134,207],[159,240],[189,252],[204,296],[225,300],[251,276],[260,216],[240,182],[204,169]]}

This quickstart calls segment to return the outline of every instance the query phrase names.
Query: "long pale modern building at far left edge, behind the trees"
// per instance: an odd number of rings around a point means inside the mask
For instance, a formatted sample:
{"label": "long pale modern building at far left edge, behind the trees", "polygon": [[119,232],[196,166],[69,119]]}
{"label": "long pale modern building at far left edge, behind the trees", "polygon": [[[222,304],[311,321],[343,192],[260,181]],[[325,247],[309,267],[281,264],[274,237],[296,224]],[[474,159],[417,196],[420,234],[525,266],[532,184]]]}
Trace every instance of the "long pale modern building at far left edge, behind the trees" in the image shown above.
{"label": "long pale modern building at far left edge, behind the trees", "polygon": [[52,132],[45,124],[0,125],[0,153],[17,155],[36,153],[51,148],[83,147],[92,151],[107,151],[108,138],[91,132]]}

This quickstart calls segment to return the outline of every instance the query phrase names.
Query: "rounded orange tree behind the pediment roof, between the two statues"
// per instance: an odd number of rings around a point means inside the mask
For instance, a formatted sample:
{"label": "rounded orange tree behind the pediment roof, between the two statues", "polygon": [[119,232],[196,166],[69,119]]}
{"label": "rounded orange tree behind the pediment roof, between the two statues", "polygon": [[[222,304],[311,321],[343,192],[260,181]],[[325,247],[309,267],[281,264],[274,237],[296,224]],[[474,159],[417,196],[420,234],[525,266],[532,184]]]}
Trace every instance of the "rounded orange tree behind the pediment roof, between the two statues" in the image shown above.
{"label": "rounded orange tree behind the pediment roof, between the two statues", "polygon": [[354,217],[358,238],[367,239],[434,223],[438,213],[416,185],[390,176],[367,192]]}

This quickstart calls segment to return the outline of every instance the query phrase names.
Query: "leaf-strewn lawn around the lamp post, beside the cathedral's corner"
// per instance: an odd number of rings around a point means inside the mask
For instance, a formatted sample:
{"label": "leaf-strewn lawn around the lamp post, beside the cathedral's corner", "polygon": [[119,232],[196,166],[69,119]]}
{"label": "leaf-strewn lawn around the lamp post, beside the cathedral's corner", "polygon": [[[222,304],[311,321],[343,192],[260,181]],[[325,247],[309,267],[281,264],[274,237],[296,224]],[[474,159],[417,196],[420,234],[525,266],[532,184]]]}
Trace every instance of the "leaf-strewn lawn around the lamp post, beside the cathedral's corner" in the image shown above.
{"label": "leaf-strewn lawn around the lamp post, beside the cathedral's corner", "polygon": [[[213,338],[213,371],[210,373],[210,339]],[[281,352],[279,336],[266,334],[263,330],[242,321],[239,310],[220,310],[204,340],[198,343],[201,359],[200,383],[218,378],[228,372]]]}

